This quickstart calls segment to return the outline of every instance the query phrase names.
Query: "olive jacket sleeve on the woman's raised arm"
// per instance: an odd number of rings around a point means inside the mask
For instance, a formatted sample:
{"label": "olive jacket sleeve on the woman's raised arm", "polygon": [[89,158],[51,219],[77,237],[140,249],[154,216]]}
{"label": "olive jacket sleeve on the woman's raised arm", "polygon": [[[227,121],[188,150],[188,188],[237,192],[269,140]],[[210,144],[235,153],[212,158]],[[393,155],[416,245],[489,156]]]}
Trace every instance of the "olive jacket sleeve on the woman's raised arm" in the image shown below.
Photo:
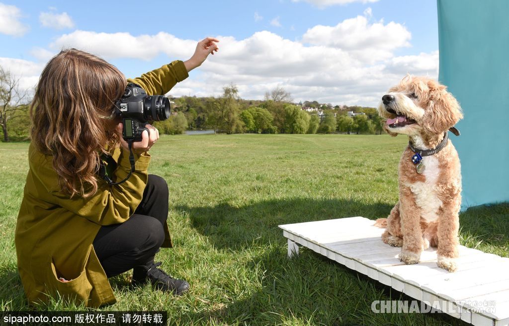
{"label": "olive jacket sleeve on the woman's raised arm", "polygon": [[176,60],[159,69],[143,74],[141,77],[129,78],[127,81],[138,84],[145,89],[148,95],[164,95],[175,84],[183,81],[188,76],[184,62]]}

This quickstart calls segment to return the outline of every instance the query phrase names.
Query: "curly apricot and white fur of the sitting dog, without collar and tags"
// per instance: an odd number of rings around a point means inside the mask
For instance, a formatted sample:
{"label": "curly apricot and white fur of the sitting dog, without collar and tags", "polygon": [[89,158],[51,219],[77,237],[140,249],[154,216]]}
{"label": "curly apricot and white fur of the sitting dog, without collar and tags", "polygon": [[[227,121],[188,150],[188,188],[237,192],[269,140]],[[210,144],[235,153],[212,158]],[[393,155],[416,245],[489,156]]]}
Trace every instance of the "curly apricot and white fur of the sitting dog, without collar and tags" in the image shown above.
{"label": "curly apricot and white fur of the sitting dog, without collar and tags", "polygon": [[[397,116],[406,120],[403,125],[386,123],[385,131],[391,136],[407,135],[420,149],[435,148],[447,130],[463,118],[454,96],[429,78],[406,76],[388,95],[394,99],[380,102],[379,115],[386,120]],[[394,111],[396,114],[391,113]],[[378,219],[376,225],[386,228],[382,235],[385,243],[402,247],[400,259],[405,264],[418,263],[422,250],[434,246],[438,247],[438,266],[455,271],[461,205],[458,153],[449,140],[438,153],[423,157],[422,174],[416,172],[412,155],[407,146],[399,165],[399,202],[387,219]]]}

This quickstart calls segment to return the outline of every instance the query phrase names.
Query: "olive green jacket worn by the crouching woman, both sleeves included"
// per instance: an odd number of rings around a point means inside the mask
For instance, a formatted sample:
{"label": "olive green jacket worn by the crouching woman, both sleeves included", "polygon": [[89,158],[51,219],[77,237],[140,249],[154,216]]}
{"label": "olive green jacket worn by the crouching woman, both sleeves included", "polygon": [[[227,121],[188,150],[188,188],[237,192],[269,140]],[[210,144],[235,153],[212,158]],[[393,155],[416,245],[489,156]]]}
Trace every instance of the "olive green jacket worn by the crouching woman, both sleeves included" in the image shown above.
{"label": "olive green jacket worn by the crouching woman, both sleeves included", "polygon": [[[149,95],[162,95],[187,77],[183,62],[174,61],[128,81]],[[113,158],[117,164],[108,170],[113,168],[114,181],[122,180],[131,170],[129,153],[119,148]],[[116,302],[92,243],[102,225],[122,223],[134,213],[142,201],[149,162],[150,154],[135,155],[135,171],[126,182],[110,186],[98,179],[99,189],[91,197],[69,198],[59,187],[52,156],[30,145],[15,233],[19,274],[30,304],[59,296],[88,307]],[[164,233],[162,247],[171,247],[167,223]]]}

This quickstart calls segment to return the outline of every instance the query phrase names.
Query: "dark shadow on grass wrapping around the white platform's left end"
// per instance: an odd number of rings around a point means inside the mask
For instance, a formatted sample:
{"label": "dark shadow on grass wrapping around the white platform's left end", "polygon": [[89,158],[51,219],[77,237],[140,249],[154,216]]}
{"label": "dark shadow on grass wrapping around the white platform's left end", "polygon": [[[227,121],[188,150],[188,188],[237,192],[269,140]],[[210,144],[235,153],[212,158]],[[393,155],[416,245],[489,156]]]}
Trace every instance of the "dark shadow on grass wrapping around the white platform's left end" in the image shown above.
{"label": "dark shadow on grass wrapping around the white platform's left end", "polygon": [[[242,207],[186,207],[192,225],[216,248],[234,251],[254,248],[263,254],[247,269],[258,275],[260,286],[232,302],[185,319],[207,324],[249,325],[466,325],[446,314],[376,314],[375,300],[412,298],[352,271],[307,248],[288,259],[286,239],[277,225],[351,216],[386,217],[392,205],[349,200],[290,199]],[[242,291],[240,291],[242,292]]]}

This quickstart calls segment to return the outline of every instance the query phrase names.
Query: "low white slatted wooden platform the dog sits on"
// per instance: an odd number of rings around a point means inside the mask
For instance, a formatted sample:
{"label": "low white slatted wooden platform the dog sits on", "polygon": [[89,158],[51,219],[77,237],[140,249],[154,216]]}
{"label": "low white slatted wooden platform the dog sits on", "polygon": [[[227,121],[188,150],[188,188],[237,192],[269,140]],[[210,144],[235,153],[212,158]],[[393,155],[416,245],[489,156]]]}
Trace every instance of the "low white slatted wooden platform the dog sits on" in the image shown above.
{"label": "low white slatted wooden platform the dog sits on", "polygon": [[373,224],[349,217],[279,227],[289,256],[305,246],[476,326],[509,325],[509,258],[461,246],[458,270],[449,273],[437,267],[436,249],[430,248],[419,264],[405,265],[401,248],[383,243],[384,230]]}

